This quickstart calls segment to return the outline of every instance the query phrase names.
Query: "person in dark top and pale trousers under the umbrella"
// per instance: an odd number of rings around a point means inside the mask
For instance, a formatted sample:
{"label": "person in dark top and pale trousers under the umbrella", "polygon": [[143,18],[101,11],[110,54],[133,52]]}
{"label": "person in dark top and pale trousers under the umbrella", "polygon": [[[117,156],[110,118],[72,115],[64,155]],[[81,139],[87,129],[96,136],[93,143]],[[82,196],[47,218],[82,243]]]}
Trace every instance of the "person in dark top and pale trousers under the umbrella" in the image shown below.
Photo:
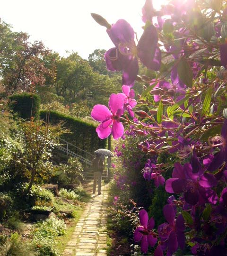
{"label": "person in dark top and pale trousers under the umbrella", "polygon": [[99,154],[96,154],[96,157],[93,159],[92,168],[94,172],[93,194],[96,193],[96,184],[98,180],[98,194],[101,195],[101,184],[102,184],[102,174],[104,170],[104,164]]}

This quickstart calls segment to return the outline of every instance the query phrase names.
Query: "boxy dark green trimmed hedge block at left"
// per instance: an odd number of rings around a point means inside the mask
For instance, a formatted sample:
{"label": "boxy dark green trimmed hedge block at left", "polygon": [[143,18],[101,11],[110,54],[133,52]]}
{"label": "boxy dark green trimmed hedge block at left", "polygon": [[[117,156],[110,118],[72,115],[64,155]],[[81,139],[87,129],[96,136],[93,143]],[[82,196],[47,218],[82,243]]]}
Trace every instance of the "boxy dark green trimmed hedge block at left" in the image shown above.
{"label": "boxy dark green trimmed hedge block at left", "polygon": [[30,119],[31,111],[32,117],[35,117],[36,119],[39,117],[41,100],[38,95],[32,95],[24,92],[20,94],[13,94],[9,96],[9,99],[11,100],[11,110],[17,112],[21,118]]}

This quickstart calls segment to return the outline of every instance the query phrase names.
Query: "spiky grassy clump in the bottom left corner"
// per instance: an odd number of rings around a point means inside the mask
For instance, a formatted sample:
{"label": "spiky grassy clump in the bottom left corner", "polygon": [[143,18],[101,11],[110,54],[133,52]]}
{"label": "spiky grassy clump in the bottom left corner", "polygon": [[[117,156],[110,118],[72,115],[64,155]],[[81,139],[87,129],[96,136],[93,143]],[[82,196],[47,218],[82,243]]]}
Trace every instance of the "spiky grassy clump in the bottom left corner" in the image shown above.
{"label": "spiky grassy clump in the bottom left corner", "polygon": [[14,233],[0,245],[0,256],[37,256],[33,246]]}

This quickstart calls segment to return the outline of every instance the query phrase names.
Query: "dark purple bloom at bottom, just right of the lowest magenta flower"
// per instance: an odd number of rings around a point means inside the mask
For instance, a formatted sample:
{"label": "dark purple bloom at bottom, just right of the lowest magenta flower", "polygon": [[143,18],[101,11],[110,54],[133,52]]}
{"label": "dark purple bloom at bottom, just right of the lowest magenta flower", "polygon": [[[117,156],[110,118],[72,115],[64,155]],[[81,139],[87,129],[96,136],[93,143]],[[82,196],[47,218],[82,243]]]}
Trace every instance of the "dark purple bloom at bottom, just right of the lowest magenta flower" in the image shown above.
{"label": "dark purple bloom at bottom, just right of the lowest magenta flower", "polygon": [[184,219],[182,214],[175,219],[175,208],[170,204],[163,207],[163,213],[167,223],[158,226],[158,235],[162,240],[162,249],[167,248],[167,256],[172,256],[178,247],[183,249],[185,246]]}

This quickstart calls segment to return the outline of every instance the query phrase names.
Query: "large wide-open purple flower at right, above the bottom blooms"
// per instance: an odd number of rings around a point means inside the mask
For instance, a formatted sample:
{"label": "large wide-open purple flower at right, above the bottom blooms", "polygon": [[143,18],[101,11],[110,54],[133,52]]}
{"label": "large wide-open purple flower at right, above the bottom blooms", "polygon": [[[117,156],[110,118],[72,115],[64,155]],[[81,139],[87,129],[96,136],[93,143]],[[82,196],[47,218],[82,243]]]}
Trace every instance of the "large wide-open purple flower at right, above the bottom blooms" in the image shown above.
{"label": "large wide-open purple flower at right, above the bottom blooms", "polygon": [[212,174],[194,173],[189,163],[183,166],[175,163],[173,178],[166,181],[166,192],[184,193],[184,200],[195,205],[198,202],[215,204],[218,200],[216,192],[210,188],[217,185],[217,180]]}

